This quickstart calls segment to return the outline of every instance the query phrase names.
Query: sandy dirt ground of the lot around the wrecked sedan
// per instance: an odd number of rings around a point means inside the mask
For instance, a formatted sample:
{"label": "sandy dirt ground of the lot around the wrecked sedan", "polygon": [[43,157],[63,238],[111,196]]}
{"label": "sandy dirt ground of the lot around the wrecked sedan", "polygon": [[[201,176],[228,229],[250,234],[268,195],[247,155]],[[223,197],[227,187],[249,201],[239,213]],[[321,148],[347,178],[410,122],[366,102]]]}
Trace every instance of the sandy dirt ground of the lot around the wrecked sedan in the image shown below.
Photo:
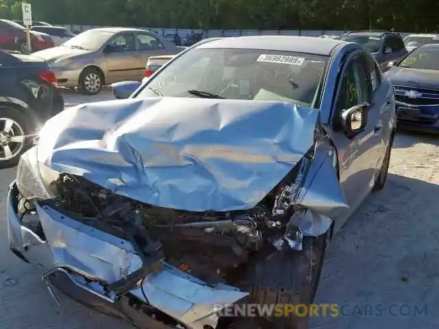
{"label": "sandy dirt ground of the lot around the wrecked sedan", "polygon": [[[66,95],[66,103],[112,99]],[[15,169],[0,171],[0,320],[4,328],[131,328],[60,296],[52,302],[32,267],[12,256],[6,241],[5,201]],[[398,134],[388,185],[370,195],[329,248],[316,302],[406,304],[396,316],[315,317],[314,329],[439,328],[439,138]],[[427,305],[427,316],[404,317]],[[348,313],[348,314],[346,314]],[[403,313],[403,314],[402,314]],[[351,316],[346,316],[351,315]],[[370,315],[370,314],[369,314]],[[154,328],[151,328],[154,329]]]}

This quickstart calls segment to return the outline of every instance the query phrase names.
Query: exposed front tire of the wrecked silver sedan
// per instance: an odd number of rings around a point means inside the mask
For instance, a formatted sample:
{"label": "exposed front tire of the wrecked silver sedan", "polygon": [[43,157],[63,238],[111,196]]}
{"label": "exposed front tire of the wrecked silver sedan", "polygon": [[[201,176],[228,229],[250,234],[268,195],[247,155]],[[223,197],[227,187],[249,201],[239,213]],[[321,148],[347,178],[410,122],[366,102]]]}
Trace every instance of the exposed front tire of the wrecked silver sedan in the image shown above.
{"label": "exposed front tire of the wrecked silver sedan", "polygon": [[[328,237],[329,233],[318,237],[305,236],[302,251],[274,251],[257,259],[248,267],[245,280],[239,284],[241,289],[250,293],[248,302],[294,306],[312,304],[320,280]],[[308,315],[290,313],[289,316],[282,317],[240,318],[230,328],[306,329],[309,324]]]}

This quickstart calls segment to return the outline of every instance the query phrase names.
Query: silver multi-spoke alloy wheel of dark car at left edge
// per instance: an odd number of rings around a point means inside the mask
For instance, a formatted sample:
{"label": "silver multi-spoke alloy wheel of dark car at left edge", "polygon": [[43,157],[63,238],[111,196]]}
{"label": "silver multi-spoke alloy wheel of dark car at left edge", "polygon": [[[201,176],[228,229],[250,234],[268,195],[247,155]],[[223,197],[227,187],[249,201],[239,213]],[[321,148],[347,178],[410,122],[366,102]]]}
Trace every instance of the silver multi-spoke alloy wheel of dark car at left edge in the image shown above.
{"label": "silver multi-spoke alloy wheel of dark car at left edge", "polygon": [[0,117],[0,161],[15,158],[24,146],[23,127],[13,119]]}

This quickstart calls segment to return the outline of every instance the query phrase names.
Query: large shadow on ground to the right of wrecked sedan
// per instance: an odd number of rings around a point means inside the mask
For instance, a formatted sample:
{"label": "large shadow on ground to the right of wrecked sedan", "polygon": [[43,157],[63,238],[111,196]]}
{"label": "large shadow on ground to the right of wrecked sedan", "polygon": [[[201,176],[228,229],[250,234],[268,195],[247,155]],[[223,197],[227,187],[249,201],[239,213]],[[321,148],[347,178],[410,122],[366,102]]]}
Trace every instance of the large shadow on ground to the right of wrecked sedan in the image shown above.
{"label": "large shadow on ground to the right of wrecked sedan", "polygon": [[[439,185],[390,174],[331,243],[312,329],[439,328]],[[427,313],[416,313],[427,310]],[[382,311],[382,312],[381,312]]]}

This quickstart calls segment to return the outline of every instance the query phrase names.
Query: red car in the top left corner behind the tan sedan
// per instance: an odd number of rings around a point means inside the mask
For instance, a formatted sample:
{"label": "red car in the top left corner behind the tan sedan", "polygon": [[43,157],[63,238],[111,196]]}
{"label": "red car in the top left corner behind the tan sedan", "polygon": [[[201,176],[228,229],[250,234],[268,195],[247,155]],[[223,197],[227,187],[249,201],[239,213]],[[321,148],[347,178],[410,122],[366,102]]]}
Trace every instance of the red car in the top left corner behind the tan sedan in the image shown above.
{"label": "red car in the top left corner behind the tan sedan", "polygon": [[54,40],[45,33],[31,31],[30,42],[32,49],[29,51],[25,27],[8,19],[0,19],[0,49],[30,53],[54,47]]}

